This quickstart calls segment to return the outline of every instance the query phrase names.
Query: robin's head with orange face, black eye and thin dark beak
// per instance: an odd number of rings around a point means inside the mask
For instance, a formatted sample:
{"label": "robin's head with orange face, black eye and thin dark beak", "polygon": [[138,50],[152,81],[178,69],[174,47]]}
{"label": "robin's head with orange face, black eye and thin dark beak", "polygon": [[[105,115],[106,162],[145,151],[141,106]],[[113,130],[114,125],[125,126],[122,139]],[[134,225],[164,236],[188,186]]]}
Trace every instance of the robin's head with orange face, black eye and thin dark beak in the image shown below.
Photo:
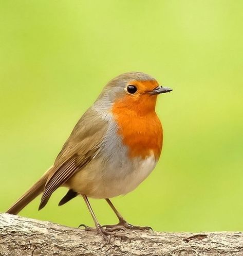
{"label": "robin's head with orange face, black eye and thin dark beak", "polygon": [[155,111],[158,94],[171,91],[171,88],[160,86],[157,80],[147,74],[128,72],[106,84],[97,104],[143,114]]}

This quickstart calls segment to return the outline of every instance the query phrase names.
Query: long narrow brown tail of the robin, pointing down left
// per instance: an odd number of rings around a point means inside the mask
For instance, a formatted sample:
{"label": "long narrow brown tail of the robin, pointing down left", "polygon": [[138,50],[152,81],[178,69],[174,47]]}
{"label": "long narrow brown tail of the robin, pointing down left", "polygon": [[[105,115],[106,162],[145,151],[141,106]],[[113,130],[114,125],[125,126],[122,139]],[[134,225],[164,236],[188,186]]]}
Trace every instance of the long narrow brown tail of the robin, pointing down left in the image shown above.
{"label": "long narrow brown tail of the robin, pointing down left", "polygon": [[45,183],[48,179],[48,175],[52,166],[46,171],[46,173],[35,182],[29,190],[25,192],[25,194],[20,197],[9,209],[6,213],[18,214],[23,208],[27,206],[36,196],[39,196],[45,187]]}

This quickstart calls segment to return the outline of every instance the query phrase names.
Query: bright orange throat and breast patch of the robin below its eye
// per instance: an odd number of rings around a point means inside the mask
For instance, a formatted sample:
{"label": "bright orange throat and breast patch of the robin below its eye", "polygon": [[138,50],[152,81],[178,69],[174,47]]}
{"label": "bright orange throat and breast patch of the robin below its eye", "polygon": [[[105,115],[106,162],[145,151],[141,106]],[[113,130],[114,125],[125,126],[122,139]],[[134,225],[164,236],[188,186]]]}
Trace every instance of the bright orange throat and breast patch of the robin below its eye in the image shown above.
{"label": "bright orange throat and breast patch of the robin below its eye", "polygon": [[[156,98],[152,100],[156,101]],[[111,110],[118,124],[118,133],[122,136],[124,145],[129,148],[130,157],[144,159],[151,156],[151,153],[154,153],[156,159],[160,156],[162,126],[150,105],[155,105],[155,102],[141,100],[134,106],[134,102],[129,102],[128,95],[126,100],[117,101]]]}

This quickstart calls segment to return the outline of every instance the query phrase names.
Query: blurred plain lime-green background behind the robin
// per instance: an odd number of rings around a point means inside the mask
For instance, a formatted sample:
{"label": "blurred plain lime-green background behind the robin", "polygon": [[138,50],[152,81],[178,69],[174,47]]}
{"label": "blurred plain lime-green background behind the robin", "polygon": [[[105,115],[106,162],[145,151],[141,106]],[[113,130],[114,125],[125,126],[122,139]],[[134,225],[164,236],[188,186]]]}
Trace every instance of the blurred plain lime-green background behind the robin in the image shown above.
{"label": "blurred plain lime-green background behind the robin", "polygon": [[[1,1],[0,211],[52,165],[104,84],[142,71],[161,95],[162,157],[135,191],[113,199],[132,224],[159,231],[243,230],[242,1]],[[21,215],[93,225],[66,189]],[[102,224],[116,223],[91,200]]]}

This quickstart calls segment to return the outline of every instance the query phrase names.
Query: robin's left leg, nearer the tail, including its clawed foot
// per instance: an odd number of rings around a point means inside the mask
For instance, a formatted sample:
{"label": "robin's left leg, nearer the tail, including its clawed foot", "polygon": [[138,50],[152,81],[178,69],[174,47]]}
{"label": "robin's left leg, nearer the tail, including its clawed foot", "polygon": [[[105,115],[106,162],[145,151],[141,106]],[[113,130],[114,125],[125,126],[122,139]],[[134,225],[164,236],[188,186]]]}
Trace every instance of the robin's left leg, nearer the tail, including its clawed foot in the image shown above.
{"label": "robin's left leg, nearer the tail, including its clawed foot", "polygon": [[96,217],[94,211],[92,210],[92,208],[91,208],[91,206],[90,206],[90,203],[89,203],[89,201],[88,201],[87,196],[86,196],[86,195],[82,195],[82,196],[83,196],[83,199],[84,199],[84,201],[85,201],[85,203],[86,203],[86,206],[87,206],[87,208],[88,208],[88,210],[89,210],[89,212],[90,212],[90,214],[91,214],[91,216],[92,216],[92,219],[93,219],[94,222],[95,222],[96,228],[91,228],[91,227],[88,227],[88,226],[86,226],[86,225],[84,225],[84,224],[81,224],[79,227],[84,227],[84,228],[85,228],[85,231],[96,231],[97,233],[101,234],[101,235],[104,237],[104,239],[105,239],[106,241],[108,241],[108,242],[110,241],[110,237],[111,237],[111,236],[120,237],[122,240],[127,240],[127,237],[126,237],[126,236],[120,235],[120,234],[117,234],[117,233],[114,233],[114,232],[113,232],[113,231],[115,231],[115,230],[121,230],[121,229],[122,229],[121,227],[103,228],[103,227],[99,224],[99,222],[98,222],[98,220],[97,220],[97,217]]}

